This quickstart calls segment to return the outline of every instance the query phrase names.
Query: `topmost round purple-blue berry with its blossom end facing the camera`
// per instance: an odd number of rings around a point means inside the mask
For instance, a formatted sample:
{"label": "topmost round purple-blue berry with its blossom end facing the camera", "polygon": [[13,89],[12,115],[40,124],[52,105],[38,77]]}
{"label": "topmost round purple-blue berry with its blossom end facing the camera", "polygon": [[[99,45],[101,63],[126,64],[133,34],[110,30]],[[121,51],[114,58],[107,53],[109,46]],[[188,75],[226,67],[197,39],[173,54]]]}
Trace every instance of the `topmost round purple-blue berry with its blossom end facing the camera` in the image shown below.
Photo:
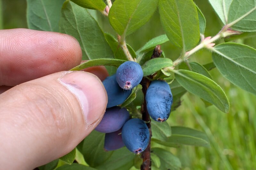
{"label": "topmost round purple-blue berry with its blossom end facing the camera", "polygon": [[142,77],[140,64],[133,61],[124,62],[116,70],[116,81],[124,90],[132,90],[140,83]]}

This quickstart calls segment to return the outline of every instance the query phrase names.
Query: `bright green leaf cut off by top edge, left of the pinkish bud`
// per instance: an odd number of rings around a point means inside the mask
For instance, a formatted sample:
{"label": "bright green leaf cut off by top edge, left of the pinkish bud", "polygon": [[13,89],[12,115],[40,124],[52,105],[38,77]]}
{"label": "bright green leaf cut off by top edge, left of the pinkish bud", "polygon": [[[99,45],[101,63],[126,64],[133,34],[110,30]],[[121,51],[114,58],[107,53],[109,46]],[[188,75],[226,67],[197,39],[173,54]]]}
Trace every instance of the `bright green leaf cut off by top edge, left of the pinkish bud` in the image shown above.
{"label": "bright green leaf cut off by top edge, left of the pinkish bud", "polygon": [[102,0],[71,0],[79,6],[84,8],[104,11],[106,4]]}

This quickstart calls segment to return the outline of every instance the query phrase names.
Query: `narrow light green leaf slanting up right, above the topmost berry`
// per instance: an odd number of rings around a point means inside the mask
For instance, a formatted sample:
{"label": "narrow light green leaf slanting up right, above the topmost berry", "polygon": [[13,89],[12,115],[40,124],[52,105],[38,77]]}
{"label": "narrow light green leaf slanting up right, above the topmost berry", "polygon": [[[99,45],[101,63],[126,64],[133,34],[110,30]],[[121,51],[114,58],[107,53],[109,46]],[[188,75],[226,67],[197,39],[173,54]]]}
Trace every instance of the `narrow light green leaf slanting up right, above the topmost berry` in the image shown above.
{"label": "narrow light green leaf slanting up right, above the topmost berry", "polygon": [[[140,49],[138,49],[136,51],[136,54],[139,53],[147,53],[150,50],[154,49],[157,45],[163,44],[165,42],[169,41],[168,37],[166,36],[166,34],[164,35],[160,35],[158,37],[155,37],[151,40],[149,40],[143,47],[141,47]],[[138,61],[138,60],[137,60]]]}

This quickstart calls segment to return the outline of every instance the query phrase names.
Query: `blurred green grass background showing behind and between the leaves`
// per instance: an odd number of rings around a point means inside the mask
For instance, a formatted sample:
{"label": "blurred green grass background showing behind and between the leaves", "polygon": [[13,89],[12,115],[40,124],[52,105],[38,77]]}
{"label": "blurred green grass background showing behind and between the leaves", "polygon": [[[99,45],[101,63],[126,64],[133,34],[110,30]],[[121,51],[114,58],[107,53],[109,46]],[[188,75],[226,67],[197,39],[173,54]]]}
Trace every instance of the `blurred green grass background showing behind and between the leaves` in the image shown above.
{"label": "blurred green grass background showing behind and between the leaves", "polygon": [[[221,29],[220,19],[216,16],[207,0],[194,0],[206,18],[205,36],[213,36]],[[2,5],[2,6],[1,6]],[[0,0],[0,28],[27,28],[26,1]],[[98,13],[100,27],[104,32],[112,33],[108,18]],[[148,40],[163,34],[158,11],[138,31],[129,35],[126,41],[139,49]],[[224,42],[220,40],[217,43]],[[246,45],[256,47],[255,37],[239,40]],[[162,45],[166,56],[175,60],[180,49],[171,43]],[[212,62],[211,52],[200,50],[191,57],[201,64]],[[210,148],[182,146],[172,148],[183,169],[256,169],[256,96],[232,85],[223,78],[217,69],[210,71],[213,79],[226,92],[230,102],[228,114],[216,107],[205,107],[202,100],[187,93],[182,97],[181,106],[171,113],[168,123],[172,126],[186,126],[204,131],[211,142]]]}

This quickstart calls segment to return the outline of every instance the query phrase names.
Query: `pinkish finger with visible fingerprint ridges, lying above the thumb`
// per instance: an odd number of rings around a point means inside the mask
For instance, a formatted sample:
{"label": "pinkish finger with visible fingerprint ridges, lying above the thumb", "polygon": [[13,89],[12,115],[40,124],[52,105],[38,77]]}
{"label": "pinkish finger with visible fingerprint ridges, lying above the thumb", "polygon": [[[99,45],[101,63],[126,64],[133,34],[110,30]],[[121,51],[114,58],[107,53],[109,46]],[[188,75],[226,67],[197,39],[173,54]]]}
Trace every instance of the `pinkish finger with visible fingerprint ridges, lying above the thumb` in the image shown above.
{"label": "pinkish finger with visible fingerprint ridges, lying above the thumb", "polygon": [[81,62],[78,41],[70,35],[29,29],[0,30],[0,85],[14,86]]}

